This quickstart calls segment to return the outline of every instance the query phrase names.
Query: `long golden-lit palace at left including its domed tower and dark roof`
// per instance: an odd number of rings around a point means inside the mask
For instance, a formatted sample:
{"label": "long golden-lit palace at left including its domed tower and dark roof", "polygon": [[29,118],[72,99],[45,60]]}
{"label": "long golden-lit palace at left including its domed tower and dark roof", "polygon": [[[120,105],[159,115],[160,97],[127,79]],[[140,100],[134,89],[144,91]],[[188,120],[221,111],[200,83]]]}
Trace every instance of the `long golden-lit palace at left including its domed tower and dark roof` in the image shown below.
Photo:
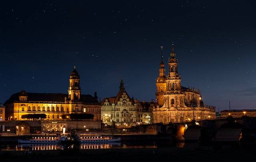
{"label": "long golden-lit palace at left including its domed tower and dark roof", "polygon": [[6,119],[22,120],[26,114],[46,114],[46,120],[62,120],[62,115],[70,113],[90,113],[94,115],[91,121],[100,121],[100,103],[96,92],[92,95],[82,95],[80,76],[76,67],[70,74],[68,94],[62,93],[14,93],[4,103]]}

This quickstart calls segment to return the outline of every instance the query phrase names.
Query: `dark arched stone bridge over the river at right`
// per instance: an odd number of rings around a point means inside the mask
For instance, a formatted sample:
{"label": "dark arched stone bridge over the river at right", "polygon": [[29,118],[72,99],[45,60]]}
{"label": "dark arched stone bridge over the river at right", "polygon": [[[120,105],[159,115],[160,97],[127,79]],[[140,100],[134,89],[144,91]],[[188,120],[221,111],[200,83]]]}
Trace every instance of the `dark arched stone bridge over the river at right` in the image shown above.
{"label": "dark arched stone bridge over the river at right", "polygon": [[154,123],[126,128],[128,133],[169,134],[173,140],[239,141],[256,139],[256,117]]}

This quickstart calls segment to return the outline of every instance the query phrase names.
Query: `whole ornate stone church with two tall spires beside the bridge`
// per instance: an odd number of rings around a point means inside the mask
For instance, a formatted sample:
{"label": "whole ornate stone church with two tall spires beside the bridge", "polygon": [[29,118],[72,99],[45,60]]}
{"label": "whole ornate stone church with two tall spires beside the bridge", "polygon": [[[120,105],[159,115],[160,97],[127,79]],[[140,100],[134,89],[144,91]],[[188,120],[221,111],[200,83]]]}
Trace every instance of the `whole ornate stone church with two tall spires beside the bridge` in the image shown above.
{"label": "whole ornate stone church with two tall spires beside the bridge", "polygon": [[[161,47],[161,53],[162,53]],[[163,57],[162,57],[163,58]],[[215,107],[206,106],[198,89],[181,86],[178,73],[178,60],[174,45],[168,60],[169,71],[165,75],[163,59],[161,59],[159,76],[156,79],[156,101],[158,107],[153,109],[154,123],[186,122],[215,118]]]}

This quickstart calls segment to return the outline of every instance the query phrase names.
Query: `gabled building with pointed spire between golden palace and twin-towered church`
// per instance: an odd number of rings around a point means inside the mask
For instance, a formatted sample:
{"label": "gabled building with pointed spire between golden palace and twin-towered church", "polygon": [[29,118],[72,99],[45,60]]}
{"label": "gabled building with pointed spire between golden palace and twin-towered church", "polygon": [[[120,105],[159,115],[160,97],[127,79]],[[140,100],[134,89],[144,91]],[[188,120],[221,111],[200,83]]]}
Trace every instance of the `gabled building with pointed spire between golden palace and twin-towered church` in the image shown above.
{"label": "gabled building with pointed spire between golden palace and twin-towered church", "polygon": [[119,92],[115,97],[104,98],[101,103],[101,119],[104,124],[116,127],[130,127],[136,124],[152,123],[154,102],[140,102],[130,98],[121,80]]}

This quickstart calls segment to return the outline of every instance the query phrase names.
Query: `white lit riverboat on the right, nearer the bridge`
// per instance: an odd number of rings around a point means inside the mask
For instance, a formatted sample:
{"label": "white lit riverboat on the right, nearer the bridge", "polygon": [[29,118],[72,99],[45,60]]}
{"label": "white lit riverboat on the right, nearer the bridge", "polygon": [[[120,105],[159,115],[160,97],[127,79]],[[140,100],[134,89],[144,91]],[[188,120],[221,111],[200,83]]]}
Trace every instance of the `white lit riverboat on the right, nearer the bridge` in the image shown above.
{"label": "white lit riverboat on the right, nearer the bridge", "polygon": [[102,136],[98,134],[79,134],[81,143],[105,143],[105,142],[118,142],[121,138],[114,136]]}

